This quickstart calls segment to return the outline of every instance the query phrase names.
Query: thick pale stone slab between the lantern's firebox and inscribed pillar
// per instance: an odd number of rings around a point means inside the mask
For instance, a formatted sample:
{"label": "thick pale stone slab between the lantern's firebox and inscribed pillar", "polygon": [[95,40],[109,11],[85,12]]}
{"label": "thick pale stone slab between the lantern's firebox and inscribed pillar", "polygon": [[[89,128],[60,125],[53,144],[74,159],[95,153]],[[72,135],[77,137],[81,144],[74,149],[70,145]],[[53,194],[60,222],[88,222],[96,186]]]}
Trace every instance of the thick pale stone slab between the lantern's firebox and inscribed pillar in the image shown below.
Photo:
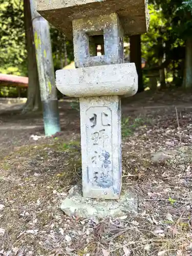
{"label": "thick pale stone slab between the lantern's firebox and inscribed pillar", "polygon": [[126,95],[138,89],[135,63],[56,71],[57,89],[72,97]]}

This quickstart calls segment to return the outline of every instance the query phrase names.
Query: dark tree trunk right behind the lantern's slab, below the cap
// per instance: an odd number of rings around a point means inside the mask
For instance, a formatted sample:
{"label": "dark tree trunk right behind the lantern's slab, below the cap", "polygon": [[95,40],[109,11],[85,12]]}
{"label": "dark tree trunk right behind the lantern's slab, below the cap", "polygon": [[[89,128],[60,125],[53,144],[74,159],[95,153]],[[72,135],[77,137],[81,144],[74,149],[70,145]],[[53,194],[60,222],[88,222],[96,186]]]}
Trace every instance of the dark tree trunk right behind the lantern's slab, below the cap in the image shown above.
{"label": "dark tree trunk right behind the lantern's slab, below the cap", "polygon": [[135,62],[138,74],[138,92],[144,91],[141,68],[141,35],[130,36],[130,62]]}

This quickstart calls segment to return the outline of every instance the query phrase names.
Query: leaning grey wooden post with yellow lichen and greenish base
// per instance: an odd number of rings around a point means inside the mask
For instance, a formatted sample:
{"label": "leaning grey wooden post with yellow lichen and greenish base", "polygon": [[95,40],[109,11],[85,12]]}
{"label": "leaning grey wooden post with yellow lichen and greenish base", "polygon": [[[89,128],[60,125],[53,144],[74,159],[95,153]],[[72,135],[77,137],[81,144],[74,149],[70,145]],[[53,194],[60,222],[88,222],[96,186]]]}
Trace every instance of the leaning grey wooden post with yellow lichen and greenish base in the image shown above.
{"label": "leaning grey wooden post with yellow lichen and greenish base", "polygon": [[49,23],[36,11],[36,0],[30,0],[30,6],[44,128],[46,136],[51,136],[60,132],[60,122]]}

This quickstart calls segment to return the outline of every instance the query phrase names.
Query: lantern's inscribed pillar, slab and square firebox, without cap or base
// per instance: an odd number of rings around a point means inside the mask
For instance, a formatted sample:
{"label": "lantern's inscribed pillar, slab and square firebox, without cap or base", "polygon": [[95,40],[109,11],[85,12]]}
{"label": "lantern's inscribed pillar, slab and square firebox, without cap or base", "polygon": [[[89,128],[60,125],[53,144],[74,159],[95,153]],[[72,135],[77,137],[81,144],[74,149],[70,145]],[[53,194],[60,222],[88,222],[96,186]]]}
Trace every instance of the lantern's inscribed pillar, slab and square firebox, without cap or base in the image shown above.
{"label": "lantern's inscribed pillar, slab and square firebox, without cap or base", "polygon": [[[96,44],[104,55],[94,56]],[[123,29],[116,13],[73,20],[76,70],[56,72],[57,88],[80,97],[83,196],[119,199],[121,193],[121,100],[134,95],[134,63],[123,63]],[[90,43],[91,42],[91,43]],[[65,85],[64,85],[65,84]]]}

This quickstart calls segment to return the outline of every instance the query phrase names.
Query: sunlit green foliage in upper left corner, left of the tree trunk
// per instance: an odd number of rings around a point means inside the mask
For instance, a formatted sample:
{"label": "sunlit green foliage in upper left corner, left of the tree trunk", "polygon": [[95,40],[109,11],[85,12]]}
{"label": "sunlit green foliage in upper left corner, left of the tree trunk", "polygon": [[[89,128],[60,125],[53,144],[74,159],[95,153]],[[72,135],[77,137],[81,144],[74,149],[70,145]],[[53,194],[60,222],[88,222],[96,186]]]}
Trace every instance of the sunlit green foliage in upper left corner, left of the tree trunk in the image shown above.
{"label": "sunlit green foliage in upper left corner, left of the tree trunk", "polygon": [[23,1],[0,0],[0,73],[27,75]]}

